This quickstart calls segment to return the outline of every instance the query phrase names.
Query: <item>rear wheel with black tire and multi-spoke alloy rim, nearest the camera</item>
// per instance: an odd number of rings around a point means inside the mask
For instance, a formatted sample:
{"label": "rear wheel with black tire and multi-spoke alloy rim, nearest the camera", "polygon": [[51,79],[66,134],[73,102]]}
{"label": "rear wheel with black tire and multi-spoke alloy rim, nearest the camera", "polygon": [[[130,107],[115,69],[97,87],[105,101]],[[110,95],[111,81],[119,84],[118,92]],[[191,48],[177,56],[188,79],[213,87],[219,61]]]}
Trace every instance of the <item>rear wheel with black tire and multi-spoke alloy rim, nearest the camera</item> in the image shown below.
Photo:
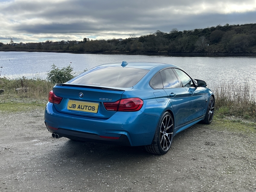
{"label": "rear wheel with black tire and multi-spoke alloy rim, nearest the camera", "polygon": [[145,149],[149,153],[163,155],[166,154],[171,145],[174,131],[174,121],[171,113],[165,112],[161,117],[151,145],[146,145]]}

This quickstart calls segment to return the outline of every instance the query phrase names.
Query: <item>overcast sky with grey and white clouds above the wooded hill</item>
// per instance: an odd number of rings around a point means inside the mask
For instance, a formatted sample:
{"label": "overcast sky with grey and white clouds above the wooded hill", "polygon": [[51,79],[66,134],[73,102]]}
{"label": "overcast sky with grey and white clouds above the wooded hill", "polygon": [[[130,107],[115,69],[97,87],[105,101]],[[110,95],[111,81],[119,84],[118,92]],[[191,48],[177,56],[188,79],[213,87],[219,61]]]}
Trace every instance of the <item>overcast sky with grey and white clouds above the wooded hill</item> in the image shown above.
{"label": "overcast sky with grey and white clouds above the wooded hill", "polygon": [[0,0],[0,42],[128,38],[256,23],[256,0]]}

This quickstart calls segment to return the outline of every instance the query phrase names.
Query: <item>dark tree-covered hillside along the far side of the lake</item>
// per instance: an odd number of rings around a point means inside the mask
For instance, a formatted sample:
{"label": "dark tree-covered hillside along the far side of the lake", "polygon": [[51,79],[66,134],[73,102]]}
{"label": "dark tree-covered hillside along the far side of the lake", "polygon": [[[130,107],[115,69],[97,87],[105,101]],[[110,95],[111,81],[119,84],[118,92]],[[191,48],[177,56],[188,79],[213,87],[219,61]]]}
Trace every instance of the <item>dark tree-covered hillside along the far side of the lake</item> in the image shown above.
{"label": "dark tree-covered hillside along the far side of the lake", "polygon": [[[12,40],[11,40],[12,41]],[[256,24],[207,27],[170,32],[157,30],[148,35],[126,39],[83,41],[45,41],[41,43],[0,43],[0,50],[29,49],[90,53],[256,53]]]}

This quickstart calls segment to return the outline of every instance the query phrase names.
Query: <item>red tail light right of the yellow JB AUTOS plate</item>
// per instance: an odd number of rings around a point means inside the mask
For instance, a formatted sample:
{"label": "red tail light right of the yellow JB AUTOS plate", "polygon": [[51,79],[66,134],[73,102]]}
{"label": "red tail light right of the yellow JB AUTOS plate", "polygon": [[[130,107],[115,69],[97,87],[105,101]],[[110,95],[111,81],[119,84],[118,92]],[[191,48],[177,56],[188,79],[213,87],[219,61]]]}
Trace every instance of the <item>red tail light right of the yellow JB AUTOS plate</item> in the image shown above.
{"label": "red tail light right of the yellow JB AUTOS plate", "polygon": [[143,100],[128,98],[116,102],[104,102],[103,104],[108,111],[139,111],[143,106]]}

